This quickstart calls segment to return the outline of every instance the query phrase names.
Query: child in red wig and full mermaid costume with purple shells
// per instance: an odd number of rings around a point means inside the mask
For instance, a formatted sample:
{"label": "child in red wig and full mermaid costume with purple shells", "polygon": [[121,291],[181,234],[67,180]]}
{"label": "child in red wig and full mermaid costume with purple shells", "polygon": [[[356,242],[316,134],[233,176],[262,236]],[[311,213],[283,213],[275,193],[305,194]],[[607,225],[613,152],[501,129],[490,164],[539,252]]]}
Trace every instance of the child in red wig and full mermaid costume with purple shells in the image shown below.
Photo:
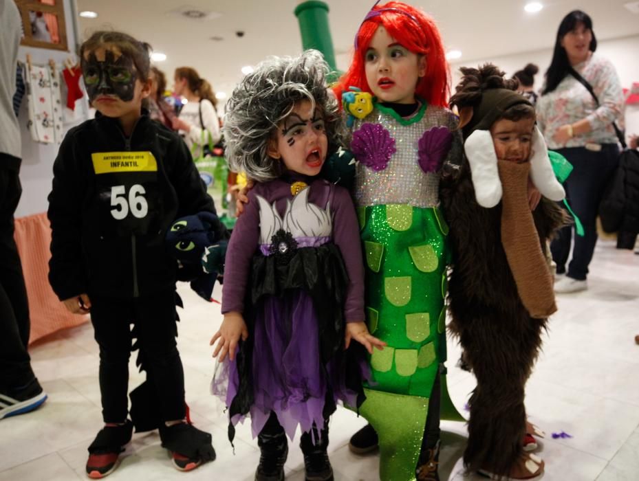
{"label": "child in red wig and full mermaid costume with purple shells", "polygon": [[440,169],[459,164],[462,153],[457,119],[446,109],[447,72],[433,20],[389,2],[365,17],[335,88],[351,116],[349,145],[358,161],[367,324],[388,344],[371,355],[374,383],[360,407],[372,427],[350,447],[364,452],[379,441],[382,480],[437,480],[440,410],[462,420],[444,369],[448,227],[438,208]]}

